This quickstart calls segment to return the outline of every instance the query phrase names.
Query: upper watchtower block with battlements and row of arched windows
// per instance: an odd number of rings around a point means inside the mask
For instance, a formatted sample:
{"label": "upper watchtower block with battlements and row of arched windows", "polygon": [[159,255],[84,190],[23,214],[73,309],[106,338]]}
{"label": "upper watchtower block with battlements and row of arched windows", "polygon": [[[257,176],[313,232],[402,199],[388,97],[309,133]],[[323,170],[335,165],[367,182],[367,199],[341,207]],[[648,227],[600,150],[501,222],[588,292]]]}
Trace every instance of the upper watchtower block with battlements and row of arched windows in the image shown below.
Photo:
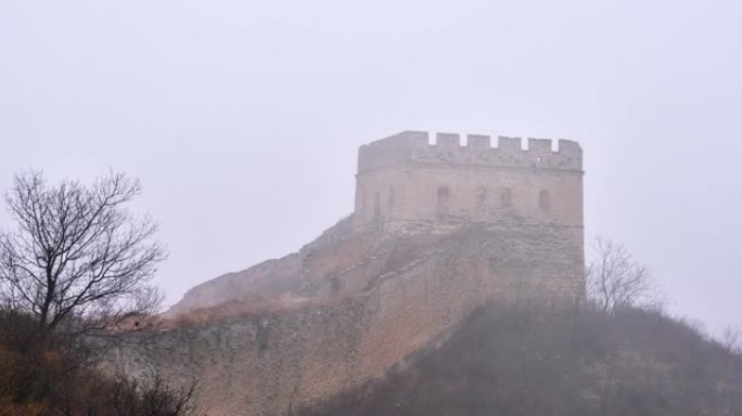
{"label": "upper watchtower block with battlements and row of arched windows", "polygon": [[[576,142],[406,131],[359,150],[354,223],[464,220],[583,227]],[[492,147],[492,144],[497,146]]]}

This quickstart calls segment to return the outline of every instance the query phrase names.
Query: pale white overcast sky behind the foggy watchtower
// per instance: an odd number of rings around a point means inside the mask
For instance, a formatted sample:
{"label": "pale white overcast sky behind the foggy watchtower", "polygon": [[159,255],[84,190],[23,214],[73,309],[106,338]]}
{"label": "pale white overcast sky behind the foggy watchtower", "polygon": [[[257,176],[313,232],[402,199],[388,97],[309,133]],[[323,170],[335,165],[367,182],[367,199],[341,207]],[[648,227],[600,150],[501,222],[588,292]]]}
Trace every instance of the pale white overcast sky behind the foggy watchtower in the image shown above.
{"label": "pale white overcast sky behind the foggy watchtower", "polygon": [[[0,188],[139,177],[167,302],[353,208],[401,130],[572,139],[586,233],[742,327],[742,3],[0,0]],[[0,226],[8,216],[0,213]]]}

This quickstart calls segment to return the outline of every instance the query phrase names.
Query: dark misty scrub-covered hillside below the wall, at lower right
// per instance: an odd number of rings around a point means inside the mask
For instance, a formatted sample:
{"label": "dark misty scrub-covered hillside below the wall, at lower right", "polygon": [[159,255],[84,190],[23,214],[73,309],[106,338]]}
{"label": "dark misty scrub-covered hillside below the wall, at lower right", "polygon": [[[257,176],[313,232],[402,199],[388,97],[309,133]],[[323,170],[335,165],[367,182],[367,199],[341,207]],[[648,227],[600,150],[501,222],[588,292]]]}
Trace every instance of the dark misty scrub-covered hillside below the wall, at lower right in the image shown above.
{"label": "dark misty scrub-covered hillside below the wall, at lower right", "polygon": [[487,307],[413,365],[302,415],[742,415],[742,356],[657,312]]}

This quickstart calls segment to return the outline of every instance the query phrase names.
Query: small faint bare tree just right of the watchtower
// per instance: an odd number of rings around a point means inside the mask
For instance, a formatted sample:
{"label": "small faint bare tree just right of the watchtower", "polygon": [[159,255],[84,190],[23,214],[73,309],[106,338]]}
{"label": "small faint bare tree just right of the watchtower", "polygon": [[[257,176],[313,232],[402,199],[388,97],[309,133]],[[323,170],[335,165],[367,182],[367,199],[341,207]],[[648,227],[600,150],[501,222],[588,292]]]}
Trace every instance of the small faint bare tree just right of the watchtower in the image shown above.
{"label": "small faint bare tree just right of the watchtower", "polygon": [[623,244],[596,237],[587,269],[587,295],[603,311],[629,306],[658,307],[661,291],[652,272],[634,261]]}

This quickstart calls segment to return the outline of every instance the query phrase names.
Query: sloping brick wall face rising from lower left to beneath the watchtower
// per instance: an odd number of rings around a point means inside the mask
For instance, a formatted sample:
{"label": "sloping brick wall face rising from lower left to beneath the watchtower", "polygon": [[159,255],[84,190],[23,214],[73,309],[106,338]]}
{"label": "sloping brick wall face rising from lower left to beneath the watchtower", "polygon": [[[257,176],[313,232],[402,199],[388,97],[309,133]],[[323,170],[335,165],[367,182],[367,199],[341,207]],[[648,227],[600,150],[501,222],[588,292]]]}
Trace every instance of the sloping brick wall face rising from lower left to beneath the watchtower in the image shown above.
{"label": "sloping brick wall face rising from lower left to beneath the watchtower", "polygon": [[165,330],[144,353],[120,351],[118,362],[135,374],[154,365],[199,379],[209,415],[289,415],[382,376],[488,300],[568,300],[581,285],[581,257],[560,249],[576,245],[577,229],[502,223],[431,233],[391,240],[428,244],[357,296]]}

